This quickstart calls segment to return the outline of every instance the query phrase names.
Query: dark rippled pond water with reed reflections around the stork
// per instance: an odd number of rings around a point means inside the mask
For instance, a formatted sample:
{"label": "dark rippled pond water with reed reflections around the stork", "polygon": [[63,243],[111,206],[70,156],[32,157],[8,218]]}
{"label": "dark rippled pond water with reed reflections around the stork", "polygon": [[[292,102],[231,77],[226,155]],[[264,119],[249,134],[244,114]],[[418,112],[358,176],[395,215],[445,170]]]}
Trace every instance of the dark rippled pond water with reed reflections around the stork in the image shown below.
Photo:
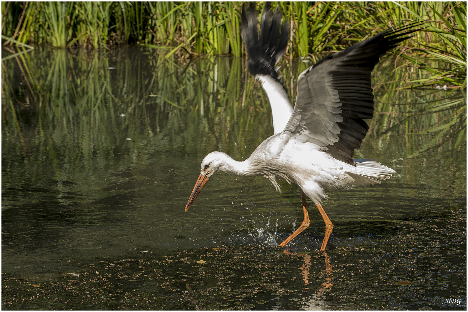
{"label": "dark rippled pond water with reed reflections around the stork", "polygon": [[[3,55],[9,52],[3,51]],[[307,60],[284,60],[290,98]],[[394,179],[329,191],[302,221],[282,181],[214,175],[273,134],[245,58],[141,47],[37,47],[2,61],[2,309],[466,310],[466,98],[406,88],[429,76],[385,58],[355,158]],[[393,81],[393,82],[392,82]],[[399,81],[399,82],[395,82]]]}

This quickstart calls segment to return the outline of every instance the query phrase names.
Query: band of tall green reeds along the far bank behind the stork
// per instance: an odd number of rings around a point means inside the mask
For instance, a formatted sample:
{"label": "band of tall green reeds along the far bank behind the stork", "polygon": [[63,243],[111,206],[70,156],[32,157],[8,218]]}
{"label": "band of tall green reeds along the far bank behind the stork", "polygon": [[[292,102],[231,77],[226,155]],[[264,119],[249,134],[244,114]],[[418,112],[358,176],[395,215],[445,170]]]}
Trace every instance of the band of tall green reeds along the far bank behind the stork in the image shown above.
{"label": "band of tall green reeds along the far bank behind the stork", "polygon": [[[289,53],[341,50],[388,27],[427,20],[405,43],[436,49],[439,58],[466,56],[464,2],[278,2],[292,27]],[[273,4],[275,7],[276,4]],[[241,55],[240,11],[232,2],[2,2],[2,35],[22,43],[178,47],[177,55]],[[257,4],[259,16],[263,4]],[[188,40],[191,38],[190,40]],[[429,44],[429,45],[428,45]]]}

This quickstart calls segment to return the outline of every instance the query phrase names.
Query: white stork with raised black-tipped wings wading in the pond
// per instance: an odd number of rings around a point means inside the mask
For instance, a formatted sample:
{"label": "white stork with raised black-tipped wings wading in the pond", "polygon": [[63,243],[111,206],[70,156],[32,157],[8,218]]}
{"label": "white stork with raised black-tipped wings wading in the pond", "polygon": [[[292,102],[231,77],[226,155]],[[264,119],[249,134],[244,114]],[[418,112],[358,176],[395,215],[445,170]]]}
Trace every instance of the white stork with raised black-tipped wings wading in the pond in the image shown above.
{"label": "white stork with raised black-tipped wings wading in the pond", "polygon": [[406,35],[417,31],[412,28],[421,23],[385,30],[310,66],[298,77],[292,108],[275,70],[285,53],[288,23],[281,23],[279,7],[272,14],[267,3],[258,36],[256,15],[252,6],[248,13],[242,9],[241,32],[249,52],[249,70],[262,84],[271,104],[274,134],[244,161],[234,160],[223,152],[206,155],[185,211],[217,171],[264,176],[277,191],[280,191],[277,179],[282,179],[297,184],[304,220],[279,246],[286,246],[310,225],[308,196],[325,221],[325,237],[320,248],[325,250],[333,230],[322,208],[322,200],[327,198],[325,190],[380,183],[395,173],[377,161],[353,160],[353,154],[369,129],[364,119],[373,116],[371,72],[374,66],[388,50],[410,37]]}

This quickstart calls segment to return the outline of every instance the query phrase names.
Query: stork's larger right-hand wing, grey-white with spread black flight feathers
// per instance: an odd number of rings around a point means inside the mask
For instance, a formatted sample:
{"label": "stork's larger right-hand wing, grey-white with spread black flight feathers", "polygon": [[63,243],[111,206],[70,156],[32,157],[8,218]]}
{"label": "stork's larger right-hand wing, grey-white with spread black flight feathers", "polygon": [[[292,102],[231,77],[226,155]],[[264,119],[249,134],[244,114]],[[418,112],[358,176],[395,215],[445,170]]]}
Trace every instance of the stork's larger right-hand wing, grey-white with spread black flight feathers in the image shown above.
{"label": "stork's larger right-hand wing, grey-white with spread black flight feathers", "polygon": [[285,131],[297,134],[298,142],[320,146],[337,160],[353,166],[369,127],[363,119],[373,116],[371,73],[379,58],[419,29],[413,23],[388,29],[340,51],[299,75],[297,98]]}

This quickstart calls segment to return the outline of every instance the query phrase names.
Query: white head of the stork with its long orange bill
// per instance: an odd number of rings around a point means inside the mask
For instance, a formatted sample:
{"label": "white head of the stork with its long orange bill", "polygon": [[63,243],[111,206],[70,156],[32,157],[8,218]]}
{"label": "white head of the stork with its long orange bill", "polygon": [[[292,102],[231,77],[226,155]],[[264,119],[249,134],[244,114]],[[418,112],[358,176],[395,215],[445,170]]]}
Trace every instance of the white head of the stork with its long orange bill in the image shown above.
{"label": "white head of the stork with its long orange bill", "polygon": [[223,167],[227,157],[229,156],[223,152],[211,152],[205,156],[202,161],[200,175],[198,176],[198,180],[192,190],[192,194],[190,194],[189,201],[185,206],[185,211],[190,208],[190,205],[195,201],[195,198],[197,198],[198,194],[200,194],[208,179],[216,171]]}

